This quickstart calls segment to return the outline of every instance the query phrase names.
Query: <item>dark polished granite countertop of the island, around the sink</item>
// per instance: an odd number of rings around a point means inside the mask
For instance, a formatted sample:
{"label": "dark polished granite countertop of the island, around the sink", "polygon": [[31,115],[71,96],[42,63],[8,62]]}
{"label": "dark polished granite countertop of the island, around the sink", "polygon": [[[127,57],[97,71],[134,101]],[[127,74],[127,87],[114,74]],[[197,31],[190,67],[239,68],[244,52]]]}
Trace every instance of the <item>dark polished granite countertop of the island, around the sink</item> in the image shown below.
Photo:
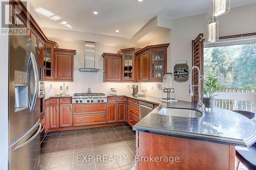
{"label": "dark polished granite countertop of the island, around the sink", "polygon": [[[159,102],[160,103],[160,102]],[[199,118],[160,115],[162,107],[193,108],[190,102],[160,104],[139,121],[133,130],[173,137],[249,147],[256,142],[256,125],[248,118],[226,109],[214,108]]]}

